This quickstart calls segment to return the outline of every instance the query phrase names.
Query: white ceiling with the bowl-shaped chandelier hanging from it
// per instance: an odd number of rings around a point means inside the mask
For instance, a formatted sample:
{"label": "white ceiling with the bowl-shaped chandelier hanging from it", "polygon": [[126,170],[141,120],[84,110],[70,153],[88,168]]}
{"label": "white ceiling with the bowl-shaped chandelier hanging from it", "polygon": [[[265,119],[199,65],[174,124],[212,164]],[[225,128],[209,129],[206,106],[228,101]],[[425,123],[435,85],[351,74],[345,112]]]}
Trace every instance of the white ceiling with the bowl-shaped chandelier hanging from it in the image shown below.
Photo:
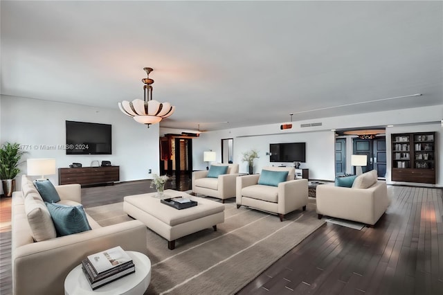
{"label": "white ceiling with the bowl-shaped chandelier hanging from it", "polygon": [[161,127],[442,105],[443,2],[1,1],[1,94],[118,109],[145,66]]}

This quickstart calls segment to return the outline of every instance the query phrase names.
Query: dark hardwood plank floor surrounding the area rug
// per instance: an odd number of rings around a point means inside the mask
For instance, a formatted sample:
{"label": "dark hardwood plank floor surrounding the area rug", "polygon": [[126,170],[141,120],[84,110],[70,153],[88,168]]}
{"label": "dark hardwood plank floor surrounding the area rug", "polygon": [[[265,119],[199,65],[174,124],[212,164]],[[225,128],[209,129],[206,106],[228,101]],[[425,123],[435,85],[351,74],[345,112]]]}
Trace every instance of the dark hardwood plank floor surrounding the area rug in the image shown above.
{"label": "dark hardwood plank floor surrounding the area rug", "polygon": [[[189,177],[166,188],[190,189]],[[374,228],[325,224],[238,294],[443,294],[442,189],[394,186]],[[154,191],[150,181],[82,188],[85,207]],[[0,202],[0,294],[11,294],[10,199]]]}

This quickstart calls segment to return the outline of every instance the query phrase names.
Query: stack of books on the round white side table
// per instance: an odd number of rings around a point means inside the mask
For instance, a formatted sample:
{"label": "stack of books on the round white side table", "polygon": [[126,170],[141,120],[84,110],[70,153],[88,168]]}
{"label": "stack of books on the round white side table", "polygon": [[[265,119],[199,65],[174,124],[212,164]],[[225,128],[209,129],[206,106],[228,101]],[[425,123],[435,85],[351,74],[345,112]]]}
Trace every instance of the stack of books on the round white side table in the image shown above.
{"label": "stack of books on the round white side table", "polygon": [[118,246],[89,255],[82,260],[82,270],[94,290],[128,274],[134,274],[136,267],[132,258]]}

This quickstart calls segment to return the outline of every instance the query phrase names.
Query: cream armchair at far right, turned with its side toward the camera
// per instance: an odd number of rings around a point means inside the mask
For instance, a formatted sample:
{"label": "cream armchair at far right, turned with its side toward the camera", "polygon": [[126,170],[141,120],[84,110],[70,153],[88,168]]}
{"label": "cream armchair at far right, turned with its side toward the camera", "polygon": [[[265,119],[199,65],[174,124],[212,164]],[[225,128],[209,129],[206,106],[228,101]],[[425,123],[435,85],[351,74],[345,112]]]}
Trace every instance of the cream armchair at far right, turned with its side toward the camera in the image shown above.
{"label": "cream armchair at far right, turned with its side toward the camera", "polygon": [[318,219],[323,215],[373,226],[390,204],[385,181],[377,180],[377,171],[359,175],[351,188],[319,185],[316,188]]}

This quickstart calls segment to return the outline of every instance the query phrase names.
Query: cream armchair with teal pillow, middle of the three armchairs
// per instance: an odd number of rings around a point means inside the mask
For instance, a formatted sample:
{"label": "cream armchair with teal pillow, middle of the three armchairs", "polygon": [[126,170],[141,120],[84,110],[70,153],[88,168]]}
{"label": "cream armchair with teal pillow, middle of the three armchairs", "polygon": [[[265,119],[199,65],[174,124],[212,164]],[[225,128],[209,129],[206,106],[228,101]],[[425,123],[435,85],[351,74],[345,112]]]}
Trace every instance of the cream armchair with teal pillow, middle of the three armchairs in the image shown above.
{"label": "cream armchair with teal pillow, middle of the three armchairs", "polygon": [[264,167],[263,170],[288,171],[287,181],[278,186],[258,184],[260,175],[237,177],[237,208],[248,206],[262,211],[276,213],[283,221],[284,215],[298,208],[306,210],[308,203],[307,179],[293,179],[295,168]]}

